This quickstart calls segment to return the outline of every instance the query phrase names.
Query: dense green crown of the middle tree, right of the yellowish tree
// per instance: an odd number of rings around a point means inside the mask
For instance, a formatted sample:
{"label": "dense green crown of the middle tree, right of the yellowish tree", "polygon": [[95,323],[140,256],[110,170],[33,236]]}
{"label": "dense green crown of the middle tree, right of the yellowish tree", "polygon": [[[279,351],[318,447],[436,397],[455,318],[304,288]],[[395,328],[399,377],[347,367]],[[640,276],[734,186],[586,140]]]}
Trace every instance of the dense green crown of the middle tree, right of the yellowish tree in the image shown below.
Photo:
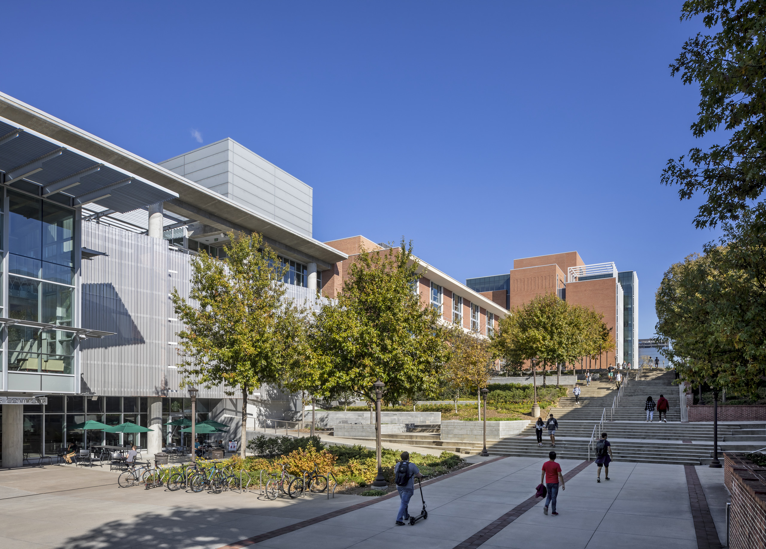
{"label": "dense green crown of the middle tree, right of the yellowish tree", "polygon": [[350,264],[336,305],[322,308],[309,328],[316,364],[314,386],[323,396],[353,393],[396,403],[437,391],[449,356],[439,312],[424,307],[414,285],[420,278],[412,243],[362,253]]}

